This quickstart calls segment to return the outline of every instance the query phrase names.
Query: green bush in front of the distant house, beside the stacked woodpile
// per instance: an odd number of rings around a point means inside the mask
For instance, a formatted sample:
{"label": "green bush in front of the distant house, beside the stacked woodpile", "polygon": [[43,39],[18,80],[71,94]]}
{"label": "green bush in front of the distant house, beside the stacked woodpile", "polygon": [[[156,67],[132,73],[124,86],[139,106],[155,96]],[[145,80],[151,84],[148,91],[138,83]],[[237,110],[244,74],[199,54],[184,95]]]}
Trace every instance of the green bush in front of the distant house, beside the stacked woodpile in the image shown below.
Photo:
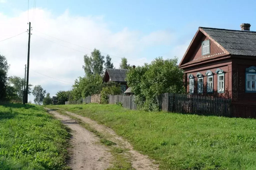
{"label": "green bush in front of the distant house, beside the stacked woodpile", "polygon": [[106,87],[103,87],[101,92],[100,92],[100,102],[102,104],[108,104],[108,94],[111,94],[111,95],[118,95],[118,94],[121,94],[122,91],[121,91],[121,87],[120,87],[120,84],[117,84],[117,85],[114,85],[114,86],[106,86]]}

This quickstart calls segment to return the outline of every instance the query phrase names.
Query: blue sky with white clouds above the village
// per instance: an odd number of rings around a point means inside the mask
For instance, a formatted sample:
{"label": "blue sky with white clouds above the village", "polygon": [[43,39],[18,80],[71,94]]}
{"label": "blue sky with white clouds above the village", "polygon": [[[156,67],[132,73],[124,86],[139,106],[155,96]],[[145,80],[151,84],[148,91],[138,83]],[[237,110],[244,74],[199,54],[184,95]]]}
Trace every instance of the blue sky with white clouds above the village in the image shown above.
{"label": "blue sky with white clouds above the village", "polygon": [[250,0],[0,0],[0,54],[9,76],[24,77],[31,22],[29,83],[54,96],[84,76],[83,56],[94,48],[116,68],[121,57],[135,66],[158,56],[180,62],[198,27],[240,30],[250,23],[256,31],[255,6]]}

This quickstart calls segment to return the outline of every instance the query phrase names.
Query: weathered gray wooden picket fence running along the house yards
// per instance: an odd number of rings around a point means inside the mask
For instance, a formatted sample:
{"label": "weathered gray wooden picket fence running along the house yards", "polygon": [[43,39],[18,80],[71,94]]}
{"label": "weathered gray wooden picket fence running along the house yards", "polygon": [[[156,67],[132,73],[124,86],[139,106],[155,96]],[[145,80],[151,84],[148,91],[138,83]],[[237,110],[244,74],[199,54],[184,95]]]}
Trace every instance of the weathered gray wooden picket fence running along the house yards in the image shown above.
{"label": "weathered gray wooden picket fence running along the house yards", "polygon": [[[122,106],[131,110],[136,110],[134,102],[135,96],[108,95],[109,104],[122,103]],[[231,99],[217,98],[212,96],[163,93],[155,98],[159,105],[159,110],[199,115],[216,115],[232,117]],[[79,101],[65,102],[65,104],[91,103],[91,96]]]}

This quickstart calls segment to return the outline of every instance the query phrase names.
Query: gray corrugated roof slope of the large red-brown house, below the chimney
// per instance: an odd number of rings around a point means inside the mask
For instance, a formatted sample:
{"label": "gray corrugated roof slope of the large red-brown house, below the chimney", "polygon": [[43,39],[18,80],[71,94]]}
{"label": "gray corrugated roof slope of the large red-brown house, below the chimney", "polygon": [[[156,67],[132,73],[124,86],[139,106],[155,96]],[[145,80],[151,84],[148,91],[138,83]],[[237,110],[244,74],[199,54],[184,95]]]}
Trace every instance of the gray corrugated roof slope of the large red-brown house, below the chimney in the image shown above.
{"label": "gray corrugated roof slope of the large red-brown house, below the chimney", "polygon": [[256,32],[202,28],[232,55],[256,56]]}

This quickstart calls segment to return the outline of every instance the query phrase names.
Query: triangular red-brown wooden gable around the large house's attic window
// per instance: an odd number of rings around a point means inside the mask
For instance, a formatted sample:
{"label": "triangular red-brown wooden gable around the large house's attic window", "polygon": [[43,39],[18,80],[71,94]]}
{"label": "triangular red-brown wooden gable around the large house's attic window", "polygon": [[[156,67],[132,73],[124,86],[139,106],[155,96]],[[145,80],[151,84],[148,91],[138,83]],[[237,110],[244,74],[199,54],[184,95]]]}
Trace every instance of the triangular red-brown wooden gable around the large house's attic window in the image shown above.
{"label": "triangular red-brown wooden gable around the large house's attic window", "polygon": [[[202,55],[202,42],[209,40],[210,53]],[[200,63],[202,61],[214,59],[217,57],[228,55],[228,51],[212,39],[200,27],[191,41],[186,53],[184,54],[179,66],[184,68],[187,65]]]}

